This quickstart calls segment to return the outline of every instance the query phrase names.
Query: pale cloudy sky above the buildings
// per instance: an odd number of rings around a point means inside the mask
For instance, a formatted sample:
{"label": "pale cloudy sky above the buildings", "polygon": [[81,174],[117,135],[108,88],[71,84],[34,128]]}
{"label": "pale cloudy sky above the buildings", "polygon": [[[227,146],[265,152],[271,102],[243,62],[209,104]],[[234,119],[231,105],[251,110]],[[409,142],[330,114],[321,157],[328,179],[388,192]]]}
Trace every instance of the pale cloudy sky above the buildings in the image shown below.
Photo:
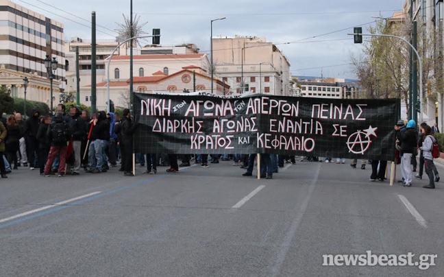
{"label": "pale cloudy sky above the buildings", "polygon": [[[130,14],[129,0],[14,1],[64,23],[66,40],[75,36],[90,40],[90,28],[84,26],[90,23],[71,14],[90,21],[91,12],[95,11],[97,24],[108,28],[97,27],[101,31],[97,32],[98,39],[112,39],[110,35],[116,35],[112,32],[117,28],[115,22],[123,22],[123,13]],[[361,51],[362,46],[354,45],[352,37],[347,36],[352,29],[312,37],[370,23],[375,20],[371,16],[391,16],[394,10],[402,9],[403,3],[404,0],[134,0],[133,9],[140,15],[140,21],[148,22],[145,32],[151,34],[151,29],[161,29],[162,45],[195,43],[201,51],[209,51],[210,20],[226,16],[227,19],[213,23],[214,36],[266,36],[267,41],[275,44],[299,40],[299,43],[277,45],[290,61],[293,75],[319,76],[320,67],[324,67],[324,76],[353,78],[348,65],[329,67],[347,64],[351,53]],[[343,40],[347,38],[349,40]],[[330,41],[308,43],[311,40]],[[314,67],[317,68],[312,69]]]}

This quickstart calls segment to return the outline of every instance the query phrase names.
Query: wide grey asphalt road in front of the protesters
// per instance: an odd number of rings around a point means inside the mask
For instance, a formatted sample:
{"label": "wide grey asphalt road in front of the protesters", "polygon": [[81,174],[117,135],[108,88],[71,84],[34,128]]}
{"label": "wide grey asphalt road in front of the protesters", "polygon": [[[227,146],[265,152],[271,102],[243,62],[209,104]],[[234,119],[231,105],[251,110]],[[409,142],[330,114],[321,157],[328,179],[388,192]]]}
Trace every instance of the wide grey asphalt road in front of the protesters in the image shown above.
{"label": "wide grey asphalt road in front of the protesters", "polygon": [[[1,179],[0,276],[444,276],[444,180],[391,187],[321,162],[273,180],[232,162],[165,169]],[[438,257],[427,270],[322,265],[368,250]]]}

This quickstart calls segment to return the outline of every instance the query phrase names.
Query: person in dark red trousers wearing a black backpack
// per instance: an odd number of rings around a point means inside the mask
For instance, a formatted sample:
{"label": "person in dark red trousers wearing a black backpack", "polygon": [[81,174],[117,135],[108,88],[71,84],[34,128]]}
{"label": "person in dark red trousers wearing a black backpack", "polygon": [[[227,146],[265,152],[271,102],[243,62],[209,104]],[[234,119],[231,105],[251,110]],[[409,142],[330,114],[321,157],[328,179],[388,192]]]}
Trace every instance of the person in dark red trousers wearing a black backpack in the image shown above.
{"label": "person in dark red trousers wearing a black backpack", "polygon": [[53,165],[56,156],[59,156],[58,177],[63,177],[66,165],[66,152],[68,146],[66,143],[71,139],[71,132],[69,125],[64,121],[62,112],[58,112],[53,121],[49,124],[47,130],[47,139],[51,141],[51,148],[49,149],[48,160],[45,165],[45,177],[49,177],[49,172]]}

